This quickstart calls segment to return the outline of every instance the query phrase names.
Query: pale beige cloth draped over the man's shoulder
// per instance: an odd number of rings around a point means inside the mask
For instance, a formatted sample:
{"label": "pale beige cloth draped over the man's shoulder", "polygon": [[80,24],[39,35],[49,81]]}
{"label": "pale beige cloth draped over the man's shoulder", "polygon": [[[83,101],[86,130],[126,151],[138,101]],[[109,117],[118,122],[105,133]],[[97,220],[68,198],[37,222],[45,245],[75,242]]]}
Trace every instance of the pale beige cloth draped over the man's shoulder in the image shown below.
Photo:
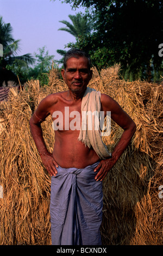
{"label": "pale beige cloth draped over the man's shoulder", "polygon": [[[87,147],[95,150],[100,159],[106,159],[111,156],[108,148],[102,141],[99,130],[96,130],[96,121],[99,122],[99,112],[101,111],[101,93],[97,90],[87,87],[82,99],[82,126],[80,129],[78,141],[81,141]],[[98,115],[89,115],[88,113],[96,112]],[[91,120],[89,118],[92,118]],[[97,119],[98,120],[97,120]],[[89,129],[91,123],[92,129]]]}

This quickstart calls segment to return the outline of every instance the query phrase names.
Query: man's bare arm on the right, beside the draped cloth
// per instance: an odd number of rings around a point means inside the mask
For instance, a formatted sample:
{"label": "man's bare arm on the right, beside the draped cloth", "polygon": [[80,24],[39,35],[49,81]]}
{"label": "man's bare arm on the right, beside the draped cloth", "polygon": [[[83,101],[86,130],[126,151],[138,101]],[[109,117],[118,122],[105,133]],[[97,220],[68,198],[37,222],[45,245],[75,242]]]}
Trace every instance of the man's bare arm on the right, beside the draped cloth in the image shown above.
{"label": "man's bare arm on the right, beside the draped cloth", "polygon": [[102,160],[95,168],[95,172],[98,170],[95,179],[103,180],[108,171],[115,165],[117,160],[120,158],[124,150],[128,147],[131,138],[136,131],[136,124],[129,117],[129,115],[123,111],[120,105],[113,100],[109,95],[101,95],[102,111],[111,111],[111,119],[114,120],[119,126],[122,127],[124,132],[120,138],[120,141],[112,151],[110,159]]}

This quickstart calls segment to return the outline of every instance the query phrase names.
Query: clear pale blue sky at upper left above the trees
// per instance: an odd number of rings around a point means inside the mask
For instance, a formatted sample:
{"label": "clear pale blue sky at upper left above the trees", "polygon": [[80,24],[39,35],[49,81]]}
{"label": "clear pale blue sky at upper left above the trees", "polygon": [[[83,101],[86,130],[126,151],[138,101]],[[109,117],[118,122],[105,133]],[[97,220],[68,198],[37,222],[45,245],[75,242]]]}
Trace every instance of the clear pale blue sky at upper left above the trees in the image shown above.
{"label": "clear pale blue sky at upper left above the trees", "polygon": [[49,55],[60,59],[57,49],[64,50],[68,42],[75,38],[65,31],[58,31],[65,27],[61,20],[71,22],[68,15],[75,15],[82,7],[72,10],[70,4],[50,0],[0,0],[0,16],[5,23],[13,28],[13,38],[20,39],[21,51],[18,55],[37,52],[38,48],[46,46]]}

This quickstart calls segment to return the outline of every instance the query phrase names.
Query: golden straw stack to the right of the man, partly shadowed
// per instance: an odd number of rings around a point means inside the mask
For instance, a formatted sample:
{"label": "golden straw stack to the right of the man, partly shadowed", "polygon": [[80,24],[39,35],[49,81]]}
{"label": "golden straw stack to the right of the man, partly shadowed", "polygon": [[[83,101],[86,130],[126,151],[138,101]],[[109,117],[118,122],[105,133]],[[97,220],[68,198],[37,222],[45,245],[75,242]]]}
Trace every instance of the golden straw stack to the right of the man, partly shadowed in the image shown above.
{"label": "golden straw stack to the right of the man, partly shadowed", "polygon": [[[120,66],[95,69],[91,85],[112,96],[137,125],[135,136],[104,181],[103,243],[113,245],[161,245],[163,243],[162,85],[125,82]],[[114,147],[122,129],[112,122]]]}

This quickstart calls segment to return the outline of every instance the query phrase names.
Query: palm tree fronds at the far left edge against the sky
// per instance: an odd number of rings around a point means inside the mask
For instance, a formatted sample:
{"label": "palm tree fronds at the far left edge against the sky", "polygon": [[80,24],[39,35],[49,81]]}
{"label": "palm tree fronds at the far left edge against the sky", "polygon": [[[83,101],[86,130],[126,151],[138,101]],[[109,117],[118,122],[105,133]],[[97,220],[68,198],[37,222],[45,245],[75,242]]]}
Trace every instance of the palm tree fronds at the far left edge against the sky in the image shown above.
{"label": "palm tree fronds at the far left edge against the sky", "polygon": [[16,59],[21,60],[23,66],[34,63],[34,58],[30,53],[22,56],[16,56],[19,49],[20,40],[12,38],[12,27],[10,23],[4,23],[2,16],[0,17],[0,44],[3,46],[3,57],[0,59],[0,66],[4,68],[8,64],[14,63]]}

